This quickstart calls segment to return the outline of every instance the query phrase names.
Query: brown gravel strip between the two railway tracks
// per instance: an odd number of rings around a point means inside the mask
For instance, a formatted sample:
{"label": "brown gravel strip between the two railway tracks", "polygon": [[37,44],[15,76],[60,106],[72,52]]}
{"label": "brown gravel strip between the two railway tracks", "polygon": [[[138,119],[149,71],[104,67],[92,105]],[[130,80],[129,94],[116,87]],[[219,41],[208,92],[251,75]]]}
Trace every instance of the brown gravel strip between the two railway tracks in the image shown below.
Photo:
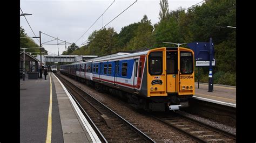
{"label": "brown gravel strip between the two railway tracks", "polygon": [[149,135],[149,137],[156,142],[194,142],[185,135],[173,130],[166,124],[139,113],[133,108],[124,105],[124,103],[121,101],[117,102],[115,98],[107,95],[106,93],[98,92],[91,87],[87,87],[87,85],[84,83],[77,82],[62,74],[60,74],[60,76],[68,78],[71,83],[77,85],[79,88],[88,92],[88,94],[99,99],[100,102],[104,103],[110,109],[118,113],[118,115],[128,120],[131,124],[139,128],[139,130],[145,134]]}

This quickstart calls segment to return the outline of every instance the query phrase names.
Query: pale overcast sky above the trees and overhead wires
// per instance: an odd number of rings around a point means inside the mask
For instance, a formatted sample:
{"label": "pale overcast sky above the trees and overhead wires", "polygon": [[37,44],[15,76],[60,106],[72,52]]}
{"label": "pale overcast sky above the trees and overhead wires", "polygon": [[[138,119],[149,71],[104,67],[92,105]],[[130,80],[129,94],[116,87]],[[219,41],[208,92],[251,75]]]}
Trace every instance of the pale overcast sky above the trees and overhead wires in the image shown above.
{"label": "pale overcast sky above the trees and overhead wires", "polygon": [[[39,31],[41,31],[52,37],[58,37],[60,40],[66,40],[72,43],[76,42],[84,32],[89,29],[113,1],[114,0],[21,0],[20,7],[24,13],[32,14],[31,16],[26,16],[26,19],[36,36],[39,36]],[[104,13],[103,17],[100,17],[90,30],[76,42],[76,45],[81,45],[93,31],[102,28],[102,26],[109,23],[135,1],[136,0],[114,1],[110,8]],[[202,0],[169,0],[169,10],[177,10],[179,7],[188,8],[201,1]],[[114,30],[119,33],[122,27],[139,22],[143,18],[143,15],[147,15],[147,18],[151,20],[152,24],[157,23],[159,22],[159,3],[160,0],[138,0],[106,27],[113,27]],[[20,21],[21,26],[25,29],[29,37],[35,36],[23,16],[20,17]],[[53,38],[45,34],[41,34],[41,38],[42,43],[53,40]],[[39,45],[36,39],[34,39],[34,41]],[[57,40],[48,43],[57,44]],[[58,54],[57,45],[43,45],[43,47],[49,51],[49,54]],[[59,45],[59,54],[62,54],[63,51],[65,51],[65,45]]]}

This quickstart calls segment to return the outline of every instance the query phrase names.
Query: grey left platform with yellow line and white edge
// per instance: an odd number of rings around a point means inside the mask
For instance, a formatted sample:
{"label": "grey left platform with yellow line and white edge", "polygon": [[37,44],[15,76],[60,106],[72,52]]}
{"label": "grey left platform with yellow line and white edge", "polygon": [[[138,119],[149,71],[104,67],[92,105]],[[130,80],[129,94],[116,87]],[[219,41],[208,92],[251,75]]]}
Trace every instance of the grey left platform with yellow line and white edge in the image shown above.
{"label": "grey left platform with yellow line and white edge", "polygon": [[[44,77],[44,76],[43,76]],[[100,142],[55,75],[20,80],[20,142]]]}

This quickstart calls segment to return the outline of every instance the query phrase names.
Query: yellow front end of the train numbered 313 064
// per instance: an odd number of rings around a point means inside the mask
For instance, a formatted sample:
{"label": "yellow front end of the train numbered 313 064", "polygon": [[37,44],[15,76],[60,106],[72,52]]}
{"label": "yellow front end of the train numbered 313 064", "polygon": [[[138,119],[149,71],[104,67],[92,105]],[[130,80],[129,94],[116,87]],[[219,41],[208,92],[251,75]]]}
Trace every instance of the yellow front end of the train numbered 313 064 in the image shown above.
{"label": "yellow front end of the train numbered 313 064", "polygon": [[[147,53],[147,97],[152,111],[179,110],[194,95],[194,52],[163,47]],[[167,98],[166,98],[167,97]]]}

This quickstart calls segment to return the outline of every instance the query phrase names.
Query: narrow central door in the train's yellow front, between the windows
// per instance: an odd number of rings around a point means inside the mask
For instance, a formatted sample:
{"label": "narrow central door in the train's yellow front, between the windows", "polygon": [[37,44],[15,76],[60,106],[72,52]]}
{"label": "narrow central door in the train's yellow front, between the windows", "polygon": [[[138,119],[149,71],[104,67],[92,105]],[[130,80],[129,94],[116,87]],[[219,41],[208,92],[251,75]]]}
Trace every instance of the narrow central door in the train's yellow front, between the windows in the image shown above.
{"label": "narrow central door in the train's yellow front, between the windows", "polygon": [[167,92],[177,92],[178,51],[166,51]]}

